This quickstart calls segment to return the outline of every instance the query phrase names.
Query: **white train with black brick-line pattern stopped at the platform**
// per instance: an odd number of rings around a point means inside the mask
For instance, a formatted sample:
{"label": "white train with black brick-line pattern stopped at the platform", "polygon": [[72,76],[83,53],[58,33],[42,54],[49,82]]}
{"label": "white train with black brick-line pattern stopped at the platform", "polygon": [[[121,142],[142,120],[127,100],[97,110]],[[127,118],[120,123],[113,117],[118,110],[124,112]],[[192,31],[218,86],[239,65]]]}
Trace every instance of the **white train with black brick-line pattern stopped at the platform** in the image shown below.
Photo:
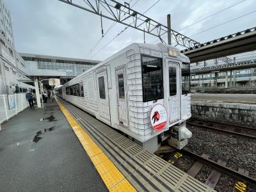
{"label": "white train with black brick-line pattern stopped at the platform", "polygon": [[61,97],[150,152],[191,138],[189,59],[165,44],[131,44],[61,86]]}

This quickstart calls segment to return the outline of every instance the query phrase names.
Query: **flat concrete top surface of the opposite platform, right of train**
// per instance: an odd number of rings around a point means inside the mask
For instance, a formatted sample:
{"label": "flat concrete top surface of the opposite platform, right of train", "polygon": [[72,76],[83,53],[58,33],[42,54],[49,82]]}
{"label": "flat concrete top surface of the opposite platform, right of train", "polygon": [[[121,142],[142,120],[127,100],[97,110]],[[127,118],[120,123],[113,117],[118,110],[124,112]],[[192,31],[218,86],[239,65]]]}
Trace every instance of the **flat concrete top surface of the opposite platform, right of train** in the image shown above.
{"label": "flat concrete top surface of the opposite platform, right of train", "polygon": [[191,94],[192,101],[204,102],[237,102],[244,104],[256,104],[255,94],[213,94],[213,93],[196,93]]}

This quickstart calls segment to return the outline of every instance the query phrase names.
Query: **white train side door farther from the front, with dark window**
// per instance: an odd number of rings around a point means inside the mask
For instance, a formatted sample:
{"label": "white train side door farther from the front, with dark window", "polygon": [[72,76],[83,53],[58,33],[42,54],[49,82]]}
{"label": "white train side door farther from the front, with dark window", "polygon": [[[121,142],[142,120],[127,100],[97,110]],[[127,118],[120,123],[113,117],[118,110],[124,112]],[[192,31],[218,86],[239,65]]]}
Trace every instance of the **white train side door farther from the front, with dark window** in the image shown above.
{"label": "white train side door farther from the front, with dark window", "polygon": [[110,113],[109,113],[109,98],[108,98],[108,76],[107,71],[104,70],[99,72],[97,75],[97,86],[98,86],[98,110],[100,120],[111,124]]}

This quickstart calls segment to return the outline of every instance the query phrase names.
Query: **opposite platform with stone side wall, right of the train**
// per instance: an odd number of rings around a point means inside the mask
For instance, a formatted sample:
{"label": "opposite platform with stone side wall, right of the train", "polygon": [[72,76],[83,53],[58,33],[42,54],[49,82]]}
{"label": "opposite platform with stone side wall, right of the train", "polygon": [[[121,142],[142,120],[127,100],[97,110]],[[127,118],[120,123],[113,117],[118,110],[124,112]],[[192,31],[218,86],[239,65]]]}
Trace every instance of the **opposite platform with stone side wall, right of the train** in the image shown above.
{"label": "opposite platform with stone side wall, right of the train", "polygon": [[193,118],[256,129],[255,94],[191,94]]}

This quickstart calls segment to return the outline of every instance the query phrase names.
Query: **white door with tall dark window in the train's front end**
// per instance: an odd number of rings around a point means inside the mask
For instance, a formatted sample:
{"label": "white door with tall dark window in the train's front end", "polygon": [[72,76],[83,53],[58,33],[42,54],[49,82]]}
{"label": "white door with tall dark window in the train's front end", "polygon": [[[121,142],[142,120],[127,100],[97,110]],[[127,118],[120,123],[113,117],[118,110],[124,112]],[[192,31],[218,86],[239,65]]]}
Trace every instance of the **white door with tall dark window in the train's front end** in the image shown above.
{"label": "white door with tall dark window in the train's front end", "polygon": [[169,69],[169,124],[180,120],[180,65],[178,62],[168,61]]}

